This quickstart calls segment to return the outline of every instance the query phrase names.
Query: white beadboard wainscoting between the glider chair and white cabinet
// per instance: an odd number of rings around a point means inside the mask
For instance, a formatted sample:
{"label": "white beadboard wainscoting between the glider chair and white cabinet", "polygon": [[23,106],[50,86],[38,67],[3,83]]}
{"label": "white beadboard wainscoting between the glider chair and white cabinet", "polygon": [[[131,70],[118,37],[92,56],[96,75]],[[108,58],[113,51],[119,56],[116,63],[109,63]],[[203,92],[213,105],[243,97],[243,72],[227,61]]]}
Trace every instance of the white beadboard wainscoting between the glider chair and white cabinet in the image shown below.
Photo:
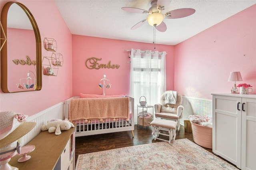
{"label": "white beadboard wainscoting between the glider chair and white cabinet", "polygon": [[184,125],[184,120],[189,120],[189,115],[212,117],[212,100],[210,99],[182,96],[182,106],[184,106],[184,111],[180,119],[181,125]]}

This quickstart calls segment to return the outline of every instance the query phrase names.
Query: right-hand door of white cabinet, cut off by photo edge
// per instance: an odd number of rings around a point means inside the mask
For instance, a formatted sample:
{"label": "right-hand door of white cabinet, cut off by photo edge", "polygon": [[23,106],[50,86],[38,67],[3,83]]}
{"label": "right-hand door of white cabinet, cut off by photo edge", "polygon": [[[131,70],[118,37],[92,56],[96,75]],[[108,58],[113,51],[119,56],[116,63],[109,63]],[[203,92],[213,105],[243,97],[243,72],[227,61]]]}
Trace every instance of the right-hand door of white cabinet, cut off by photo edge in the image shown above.
{"label": "right-hand door of white cabinet, cut off by photo edge", "polygon": [[242,98],[241,169],[256,169],[256,99]]}

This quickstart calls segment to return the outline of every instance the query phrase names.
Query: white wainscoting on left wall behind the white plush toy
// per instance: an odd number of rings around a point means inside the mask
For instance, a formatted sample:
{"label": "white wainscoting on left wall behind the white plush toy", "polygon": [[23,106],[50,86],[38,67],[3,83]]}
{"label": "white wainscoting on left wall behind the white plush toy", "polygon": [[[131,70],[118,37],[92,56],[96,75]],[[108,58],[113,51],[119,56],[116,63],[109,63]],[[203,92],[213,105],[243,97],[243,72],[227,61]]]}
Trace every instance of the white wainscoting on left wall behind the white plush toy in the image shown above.
{"label": "white wainscoting on left wall behind the white plush toy", "polygon": [[64,104],[65,101],[58,103],[36,115],[32,115],[28,117],[28,122],[36,122],[36,126],[28,132],[25,136],[23,136],[19,142],[24,146],[34,137],[36,137],[41,132],[42,125],[45,125],[47,121],[51,119],[62,119],[64,120]]}

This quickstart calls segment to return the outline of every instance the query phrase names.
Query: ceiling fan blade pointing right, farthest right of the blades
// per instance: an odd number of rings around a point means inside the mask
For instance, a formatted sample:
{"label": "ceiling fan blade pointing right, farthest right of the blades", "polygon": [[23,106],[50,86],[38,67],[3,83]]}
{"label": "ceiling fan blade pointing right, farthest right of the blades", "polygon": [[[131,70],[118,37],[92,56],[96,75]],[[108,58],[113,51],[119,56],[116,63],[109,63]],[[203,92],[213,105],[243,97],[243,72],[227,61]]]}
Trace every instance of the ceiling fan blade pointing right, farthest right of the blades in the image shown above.
{"label": "ceiling fan blade pointing right, farthest right of the blades", "polygon": [[184,18],[186,16],[190,16],[194,14],[196,10],[192,8],[181,8],[177,10],[172,10],[165,13],[167,19],[176,19],[176,18]]}

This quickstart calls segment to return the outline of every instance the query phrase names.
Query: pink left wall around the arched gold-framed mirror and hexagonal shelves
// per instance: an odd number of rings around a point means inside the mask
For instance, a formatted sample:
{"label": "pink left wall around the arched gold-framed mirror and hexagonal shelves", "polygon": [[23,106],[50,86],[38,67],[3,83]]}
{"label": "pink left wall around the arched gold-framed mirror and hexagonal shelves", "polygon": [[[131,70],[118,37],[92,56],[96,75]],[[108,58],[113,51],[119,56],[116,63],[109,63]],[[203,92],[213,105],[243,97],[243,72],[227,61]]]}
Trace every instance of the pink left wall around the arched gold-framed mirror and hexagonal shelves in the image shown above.
{"label": "pink left wall around the arched gold-framed mirror and hexagonal shelves", "polygon": [[[0,10],[8,0],[0,1]],[[54,38],[58,53],[62,53],[64,65],[58,76],[42,75],[42,89],[20,93],[3,93],[0,91],[0,111],[15,111],[34,115],[61,101],[72,97],[72,35],[60,16],[53,0],[18,0],[33,14],[40,31],[41,40]],[[51,56],[42,43],[42,57]]]}

